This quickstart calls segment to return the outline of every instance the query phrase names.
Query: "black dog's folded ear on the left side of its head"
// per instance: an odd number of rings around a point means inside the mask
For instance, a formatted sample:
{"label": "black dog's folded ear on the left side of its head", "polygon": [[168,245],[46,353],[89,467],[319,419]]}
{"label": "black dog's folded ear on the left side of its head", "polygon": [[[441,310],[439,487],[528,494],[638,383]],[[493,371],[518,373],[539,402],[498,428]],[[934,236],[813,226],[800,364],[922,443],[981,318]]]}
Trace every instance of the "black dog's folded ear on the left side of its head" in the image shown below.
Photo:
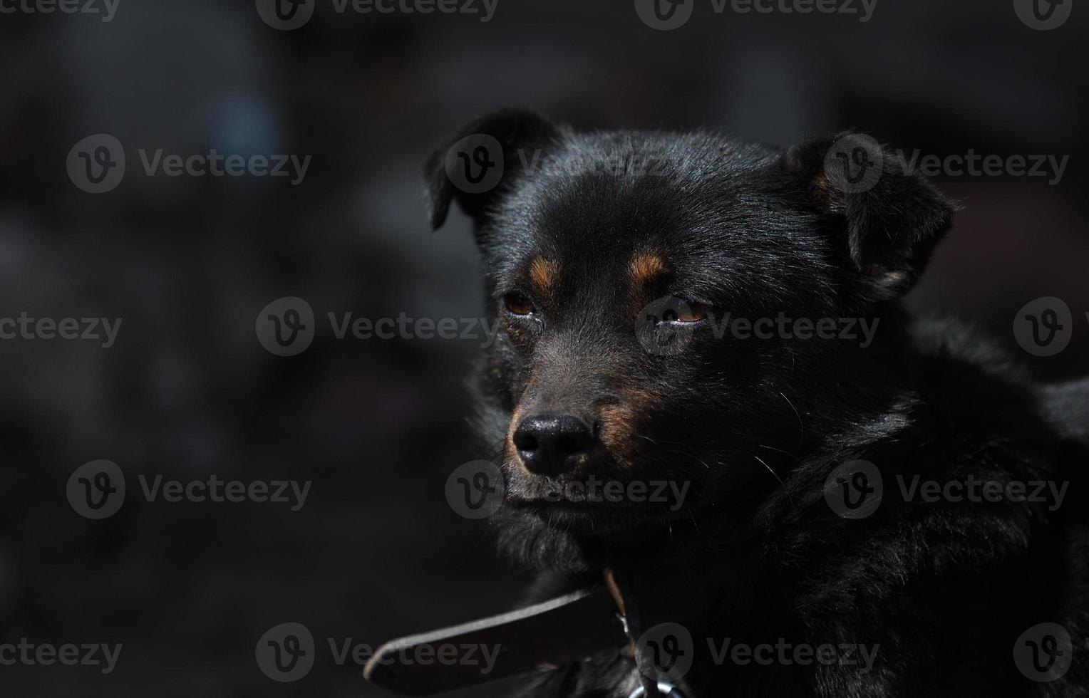
{"label": "black dog's folded ear on the left side of its head", "polygon": [[479,219],[525,163],[537,161],[533,151],[543,150],[559,137],[559,127],[525,109],[503,109],[466,125],[448,147],[432,152],[425,166],[432,230],[445,222],[454,199],[467,216]]}

